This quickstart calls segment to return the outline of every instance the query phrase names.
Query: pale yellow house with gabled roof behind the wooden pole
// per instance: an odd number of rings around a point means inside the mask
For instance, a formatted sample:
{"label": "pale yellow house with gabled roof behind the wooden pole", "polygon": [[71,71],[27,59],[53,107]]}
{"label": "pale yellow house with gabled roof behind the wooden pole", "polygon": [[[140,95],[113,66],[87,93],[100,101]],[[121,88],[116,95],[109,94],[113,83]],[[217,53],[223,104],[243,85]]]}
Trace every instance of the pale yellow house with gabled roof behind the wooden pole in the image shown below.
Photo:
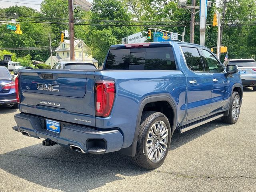
{"label": "pale yellow house with gabled roof behind the wooden pole", "polygon": [[[92,53],[90,48],[82,41],[82,40],[74,40],[74,48],[75,48],[75,60],[83,60],[89,63],[93,63],[98,68],[98,61],[92,58]],[[56,57],[52,56],[46,60],[46,64],[52,66],[58,61],[70,60],[70,41],[65,40],[64,42],[60,42],[59,46],[55,50]]]}

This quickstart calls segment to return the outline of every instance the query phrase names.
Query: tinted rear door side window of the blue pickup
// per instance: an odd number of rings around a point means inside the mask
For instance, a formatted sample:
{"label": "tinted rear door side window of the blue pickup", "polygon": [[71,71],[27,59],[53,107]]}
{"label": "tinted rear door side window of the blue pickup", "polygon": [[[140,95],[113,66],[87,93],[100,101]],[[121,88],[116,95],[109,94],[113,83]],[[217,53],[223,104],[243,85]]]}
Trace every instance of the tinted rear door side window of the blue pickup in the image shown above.
{"label": "tinted rear door side window of the blue pickup", "polygon": [[182,47],[182,51],[189,69],[193,71],[204,71],[202,60],[197,48]]}

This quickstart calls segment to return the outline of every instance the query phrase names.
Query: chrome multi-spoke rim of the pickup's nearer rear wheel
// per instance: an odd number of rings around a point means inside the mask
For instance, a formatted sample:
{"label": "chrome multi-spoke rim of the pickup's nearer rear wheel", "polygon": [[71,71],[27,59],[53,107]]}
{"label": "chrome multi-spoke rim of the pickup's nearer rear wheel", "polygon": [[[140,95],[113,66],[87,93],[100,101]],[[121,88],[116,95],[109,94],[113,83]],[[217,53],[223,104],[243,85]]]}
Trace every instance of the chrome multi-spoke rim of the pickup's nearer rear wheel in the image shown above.
{"label": "chrome multi-spoke rim of the pickup's nearer rear wheel", "polygon": [[163,121],[156,121],[151,126],[147,142],[146,151],[150,161],[159,162],[166,153],[168,144],[168,128]]}

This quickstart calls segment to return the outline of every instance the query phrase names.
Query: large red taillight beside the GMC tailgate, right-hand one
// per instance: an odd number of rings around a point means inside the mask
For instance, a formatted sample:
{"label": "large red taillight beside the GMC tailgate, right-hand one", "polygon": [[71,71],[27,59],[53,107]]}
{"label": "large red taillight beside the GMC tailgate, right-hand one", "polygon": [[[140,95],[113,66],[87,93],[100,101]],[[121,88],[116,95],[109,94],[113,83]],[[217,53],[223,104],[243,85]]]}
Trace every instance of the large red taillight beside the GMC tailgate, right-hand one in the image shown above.
{"label": "large red taillight beside the GMC tailgate, right-hand one", "polygon": [[95,85],[95,115],[110,116],[115,99],[115,82],[98,80]]}

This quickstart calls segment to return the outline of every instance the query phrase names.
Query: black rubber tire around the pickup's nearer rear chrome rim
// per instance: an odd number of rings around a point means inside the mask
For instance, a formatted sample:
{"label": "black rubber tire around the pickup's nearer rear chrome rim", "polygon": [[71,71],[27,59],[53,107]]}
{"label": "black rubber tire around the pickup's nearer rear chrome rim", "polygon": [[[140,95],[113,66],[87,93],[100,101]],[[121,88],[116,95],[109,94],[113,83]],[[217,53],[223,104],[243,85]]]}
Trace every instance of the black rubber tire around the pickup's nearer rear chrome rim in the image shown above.
{"label": "black rubber tire around the pickup's nearer rear chrome rim", "polygon": [[[168,130],[168,136],[166,136],[167,145],[166,145],[166,150],[164,154],[162,154],[160,160],[158,162],[152,162],[148,158],[147,148],[146,148],[146,144],[147,144],[146,138],[148,138],[148,134],[150,134],[150,129],[153,126],[153,124],[159,121],[163,121],[164,122],[163,125],[166,126],[166,130]],[[158,136],[160,136],[160,134],[158,134]],[[171,127],[167,117],[160,112],[154,112],[154,111],[143,112],[141,123],[140,123],[140,130],[138,134],[136,154],[134,157],[132,157],[132,162],[137,166],[140,166],[148,170],[152,170],[160,167],[164,163],[164,159],[168,154],[168,150],[170,148],[170,142],[171,142]],[[153,142],[152,142],[152,145],[153,145]],[[153,148],[153,147],[151,146],[150,148]]]}

